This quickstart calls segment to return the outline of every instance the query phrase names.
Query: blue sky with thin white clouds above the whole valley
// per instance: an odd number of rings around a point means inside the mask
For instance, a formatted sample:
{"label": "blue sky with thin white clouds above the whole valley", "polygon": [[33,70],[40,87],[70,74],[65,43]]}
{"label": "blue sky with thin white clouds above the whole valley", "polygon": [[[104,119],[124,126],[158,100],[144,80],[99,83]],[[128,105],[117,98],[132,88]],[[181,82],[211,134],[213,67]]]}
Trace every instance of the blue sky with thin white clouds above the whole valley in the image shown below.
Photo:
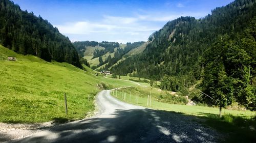
{"label": "blue sky with thin white clouds above the whole valley", "polygon": [[148,36],[180,16],[204,17],[232,0],[81,1],[14,0],[58,27],[73,41],[147,41]]}

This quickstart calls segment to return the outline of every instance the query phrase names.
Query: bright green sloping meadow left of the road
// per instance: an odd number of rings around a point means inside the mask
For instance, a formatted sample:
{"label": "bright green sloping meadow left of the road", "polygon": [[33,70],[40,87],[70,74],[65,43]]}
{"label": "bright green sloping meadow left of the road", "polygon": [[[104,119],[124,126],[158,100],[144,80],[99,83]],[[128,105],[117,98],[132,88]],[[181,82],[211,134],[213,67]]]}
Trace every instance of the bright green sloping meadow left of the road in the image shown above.
{"label": "bright green sloping meadow left of the road", "polygon": [[[16,56],[17,61],[6,61],[7,56]],[[83,119],[94,110],[93,98],[102,88],[137,86],[95,76],[89,68],[86,70],[20,55],[0,46],[0,122]],[[65,115],[64,93],[67,93],[68,115]]]}

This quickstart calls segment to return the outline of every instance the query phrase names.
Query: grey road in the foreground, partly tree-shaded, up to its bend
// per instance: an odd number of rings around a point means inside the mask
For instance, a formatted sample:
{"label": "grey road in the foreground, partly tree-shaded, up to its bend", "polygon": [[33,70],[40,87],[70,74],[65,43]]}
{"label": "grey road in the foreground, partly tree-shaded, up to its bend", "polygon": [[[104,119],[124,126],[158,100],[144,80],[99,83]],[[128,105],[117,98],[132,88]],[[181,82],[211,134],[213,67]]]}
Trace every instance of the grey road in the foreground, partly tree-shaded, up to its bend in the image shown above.
{"label": "grey road in the foreground, partly tree-shaded, up to its bend", "polygon": [[195,117],[123,103],[101,91],[93,118],[42,130],[12,142],[218,142]]}

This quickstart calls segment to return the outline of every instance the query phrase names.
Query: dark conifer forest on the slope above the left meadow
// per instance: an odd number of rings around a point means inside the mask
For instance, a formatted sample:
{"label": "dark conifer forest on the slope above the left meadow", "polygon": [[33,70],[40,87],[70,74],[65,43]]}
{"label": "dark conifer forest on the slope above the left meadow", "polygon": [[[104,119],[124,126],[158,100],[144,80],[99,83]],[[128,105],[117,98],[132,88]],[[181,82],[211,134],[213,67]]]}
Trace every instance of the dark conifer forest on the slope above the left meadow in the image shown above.
{"label": "dark conifer forest on the slope above the left meadow", "polygon": [[33,12],[20,10],[9,0],[0,1],[0,44],[21,54],[46,61],[67,62],[81,68],[78,54],[68,37]]}

